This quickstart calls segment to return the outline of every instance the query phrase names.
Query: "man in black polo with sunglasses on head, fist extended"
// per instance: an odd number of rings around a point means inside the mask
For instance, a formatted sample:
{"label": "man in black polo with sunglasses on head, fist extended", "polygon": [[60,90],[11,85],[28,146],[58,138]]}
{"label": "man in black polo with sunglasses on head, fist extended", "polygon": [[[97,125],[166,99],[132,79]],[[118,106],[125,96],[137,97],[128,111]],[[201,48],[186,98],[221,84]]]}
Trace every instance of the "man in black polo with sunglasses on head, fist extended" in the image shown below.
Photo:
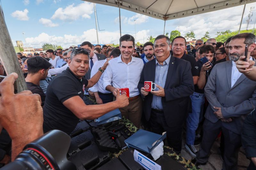
{"label": "man in black polo with sunglasses on head, fist extended", "polygon": [[[93,120],[116,108],[129,104],[126,95],[117,95],[116,101],[102,105],[86,105],[83,101],[84,89],[98,82],[108,61],[89,80],[84,75],[89,69],[90,50],[74,48],[69,60],[69,68],[54,77],[47,88],[44,103],[44,132],[52,129],[70,134],[79,119]],[[119,94],[119,91],[117,92]]]}

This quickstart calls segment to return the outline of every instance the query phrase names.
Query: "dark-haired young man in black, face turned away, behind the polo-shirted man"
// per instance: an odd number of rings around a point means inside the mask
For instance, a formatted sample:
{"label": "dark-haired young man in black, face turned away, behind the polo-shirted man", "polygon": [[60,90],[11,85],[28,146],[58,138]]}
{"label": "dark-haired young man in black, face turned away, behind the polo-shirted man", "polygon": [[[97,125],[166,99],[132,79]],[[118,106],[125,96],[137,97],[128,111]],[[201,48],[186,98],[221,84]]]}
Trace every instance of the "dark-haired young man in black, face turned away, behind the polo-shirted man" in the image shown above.
{"label": "dark-haired young man in black, face turned away, behind the polo-shirted man", "polygon": [[47,77],[51,63],[40,56],[36,56],[29,58],[27,60],[27,64],[28,75],[25,80],[28,86],[28,90],[30,90],[33,94],[39,94],[42,101],[41,106],[44,106],[45,94],[39,85],[40,80],[44,80]]}

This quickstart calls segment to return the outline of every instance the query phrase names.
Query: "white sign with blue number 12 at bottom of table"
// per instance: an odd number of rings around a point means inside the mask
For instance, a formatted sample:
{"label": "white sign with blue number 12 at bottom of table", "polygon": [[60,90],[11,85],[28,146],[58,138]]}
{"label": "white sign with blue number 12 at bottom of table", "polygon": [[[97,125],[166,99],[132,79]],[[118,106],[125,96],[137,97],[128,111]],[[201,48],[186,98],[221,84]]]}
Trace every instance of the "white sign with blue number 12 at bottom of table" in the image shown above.
{"label": "white sign with blue number 12 at bottom of table", "polygon": [[161,170],[161,166],[156,162],[148,159],[145,155],[140,152],[134,150],[133,153],[134,160],[138,162],[141,166],[143,166],[146,170]]}

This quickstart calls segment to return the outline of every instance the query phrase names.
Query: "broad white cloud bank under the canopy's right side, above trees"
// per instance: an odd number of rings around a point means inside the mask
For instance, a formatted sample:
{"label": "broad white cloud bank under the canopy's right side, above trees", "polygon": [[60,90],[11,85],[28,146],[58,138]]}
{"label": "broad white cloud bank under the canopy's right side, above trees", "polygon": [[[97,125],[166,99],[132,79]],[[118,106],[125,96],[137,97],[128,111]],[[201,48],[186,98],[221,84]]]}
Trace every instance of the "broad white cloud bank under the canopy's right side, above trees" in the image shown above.
{"label": "broad white cloud bank under the canopy's right side, above trees", "polygon": [[[251,6],[254,5],[255,4],[246,5],[241,30],[246,29],[245,21],[248,18]],[[175,30],[179,29],[182,36],[184,36],[185,33],[192,30],[196,35],[196,39],[199,39],[204,36],[206,31],[209,31],[210,36],[212,38],[216,37],[215,34],[217,33],[217,31],[225,31],[227,29],[230,29],[231,31],[236,31],[239,29],[243,7],[244,5],[241,5],[224,10],[213,11],[186,18],[175,19],[173,20],[174,22],[172,22],[172,24],[167,24],[165,26],[165,32],[170,33],[172,30],[169,30],[168,28],[174,26]],[[251,22],[249,24],[248,29],[252,29],[253,24],[254,22]]]}

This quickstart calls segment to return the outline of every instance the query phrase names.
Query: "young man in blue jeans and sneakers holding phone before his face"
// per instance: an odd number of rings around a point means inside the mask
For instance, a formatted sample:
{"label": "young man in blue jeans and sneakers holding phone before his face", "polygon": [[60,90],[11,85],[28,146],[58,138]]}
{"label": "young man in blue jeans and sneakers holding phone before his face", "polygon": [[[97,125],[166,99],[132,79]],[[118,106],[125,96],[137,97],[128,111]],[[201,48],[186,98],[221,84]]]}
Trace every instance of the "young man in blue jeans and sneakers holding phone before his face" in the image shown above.
{"label": "young man in blue jeans and sneakers holding phone before his face", "polygon": [[185,148],[188,152],[196,157],[197,150],[194,146],[194,141],[196,138],[196,129],[200,122],[200,117],[203,115],[203,105],[204,105],[204,86],[207,83],[207,79],[210,75],[210,71],[212,66],[210,62],[213,60],[215,49],[212,45],[204,45],[199,50],[200,58],[206,57],[209,62],[203,63],[198,60],[196,63],[198,65],[198,69],[200,70],[199,78],[197,84],[194,86],[195,91],[190,96],[192,102],[192,112],[188,114],[188,118],[186,121],[187,131],[186,131],[186,144]]}

